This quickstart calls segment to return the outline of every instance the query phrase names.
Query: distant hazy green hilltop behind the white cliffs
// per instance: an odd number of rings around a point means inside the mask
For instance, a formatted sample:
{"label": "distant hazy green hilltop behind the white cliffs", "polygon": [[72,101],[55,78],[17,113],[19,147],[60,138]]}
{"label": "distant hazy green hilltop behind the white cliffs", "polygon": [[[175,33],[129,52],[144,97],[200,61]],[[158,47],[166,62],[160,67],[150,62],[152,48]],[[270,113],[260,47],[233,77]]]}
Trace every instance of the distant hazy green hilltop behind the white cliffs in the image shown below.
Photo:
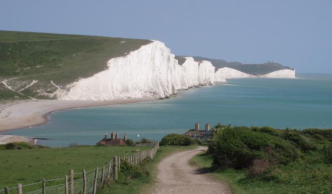
{"label": "distant hazy green hilltop behind the white cliffs", "polygon": [[[276,70],[292,69],[290,67],[282,66],[281,64],[274,62],[268,62],[263,64],[243,64],[240,62],[227,62],[222,59],[209,59],[204,57],[193,57],[193,58],[197,62],[200,62],[202,60],[210,61],[216,67],[216,70],[222,67],[229,67],[251,75],[257,75],[257,74],[264,75],[264,74],[269,74],[270,72]],[[179,60],[180,64],[183,64],[185,61],[185,59],[182,56],[176,56],[176,59]]]}

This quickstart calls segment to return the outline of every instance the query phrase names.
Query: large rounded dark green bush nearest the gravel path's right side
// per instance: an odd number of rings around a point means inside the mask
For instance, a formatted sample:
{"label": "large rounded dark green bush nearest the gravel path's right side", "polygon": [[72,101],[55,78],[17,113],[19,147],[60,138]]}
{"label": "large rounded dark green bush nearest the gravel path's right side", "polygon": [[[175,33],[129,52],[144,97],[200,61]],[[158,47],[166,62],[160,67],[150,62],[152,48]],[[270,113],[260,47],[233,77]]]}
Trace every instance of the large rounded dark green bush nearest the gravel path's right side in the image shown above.
{"label": "large rounded dark green bush nearest the gravel path's right side", "polygon": [[289,141],[247,127],[225,128],[213,138],[215,150],[212,155],[214,164],[219,166],[246,168],[258,159],[286,164],[300,156],[299,150]]}

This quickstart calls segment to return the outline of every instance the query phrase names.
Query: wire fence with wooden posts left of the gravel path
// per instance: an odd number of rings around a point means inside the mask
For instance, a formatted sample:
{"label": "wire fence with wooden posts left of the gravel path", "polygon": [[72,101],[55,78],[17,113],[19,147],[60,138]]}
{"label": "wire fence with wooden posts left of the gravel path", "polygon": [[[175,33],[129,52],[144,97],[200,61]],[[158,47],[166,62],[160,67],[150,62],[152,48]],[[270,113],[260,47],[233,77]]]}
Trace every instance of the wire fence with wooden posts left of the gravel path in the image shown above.
{"label": "wire fence with wooden posts left of the gravel path", "polygon": [[31,184],[17,184],[15,187],[5,187],[0,189],[0,194],[90,194],[96,193],[97,189],[102,188],[110,180],[116,180],[118,171],[120,171],[121,163],[126,161],[132,164],[138,164],[145,158],[153,159],[159,149],[158,141],[152,143],[139,143],[136,147],[150,147],[149,150],[141,150],[132,155],[123,157],[114,156],[113,159],[104,166],[97,166],[89,171],[82,172],[69,171],[69,176],[55,178],[50,180],[42,180]]}

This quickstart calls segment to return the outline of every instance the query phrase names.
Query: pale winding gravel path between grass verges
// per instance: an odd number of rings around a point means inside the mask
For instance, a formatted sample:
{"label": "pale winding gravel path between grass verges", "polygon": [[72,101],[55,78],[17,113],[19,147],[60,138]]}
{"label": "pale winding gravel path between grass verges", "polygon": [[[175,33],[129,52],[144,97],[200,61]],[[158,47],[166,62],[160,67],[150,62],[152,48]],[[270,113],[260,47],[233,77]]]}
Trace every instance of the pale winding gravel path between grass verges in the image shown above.
{"label": "pale winding gravel path between grass verges", "polygon": [[154,193],[231,193],[227,184],[201,174],[188,164],[206,147],[173,154],[158,165],[158,183]]}

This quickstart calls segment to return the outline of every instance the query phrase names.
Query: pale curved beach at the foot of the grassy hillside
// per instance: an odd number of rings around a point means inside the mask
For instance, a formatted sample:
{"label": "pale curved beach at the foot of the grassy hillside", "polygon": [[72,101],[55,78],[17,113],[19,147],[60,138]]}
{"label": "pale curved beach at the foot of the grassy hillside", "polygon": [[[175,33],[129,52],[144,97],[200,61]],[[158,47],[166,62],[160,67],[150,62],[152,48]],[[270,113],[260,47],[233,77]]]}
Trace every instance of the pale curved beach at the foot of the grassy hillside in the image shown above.
{"label": "pale curved beach at the foot of the grassy hillside", "polygon": [[136,103],[152,100],[156,99],[137,98],[114,99],[108,101],[26,100],[0,102],[0,132],[44,124],[48,122],[47,115],[57,110]]}

